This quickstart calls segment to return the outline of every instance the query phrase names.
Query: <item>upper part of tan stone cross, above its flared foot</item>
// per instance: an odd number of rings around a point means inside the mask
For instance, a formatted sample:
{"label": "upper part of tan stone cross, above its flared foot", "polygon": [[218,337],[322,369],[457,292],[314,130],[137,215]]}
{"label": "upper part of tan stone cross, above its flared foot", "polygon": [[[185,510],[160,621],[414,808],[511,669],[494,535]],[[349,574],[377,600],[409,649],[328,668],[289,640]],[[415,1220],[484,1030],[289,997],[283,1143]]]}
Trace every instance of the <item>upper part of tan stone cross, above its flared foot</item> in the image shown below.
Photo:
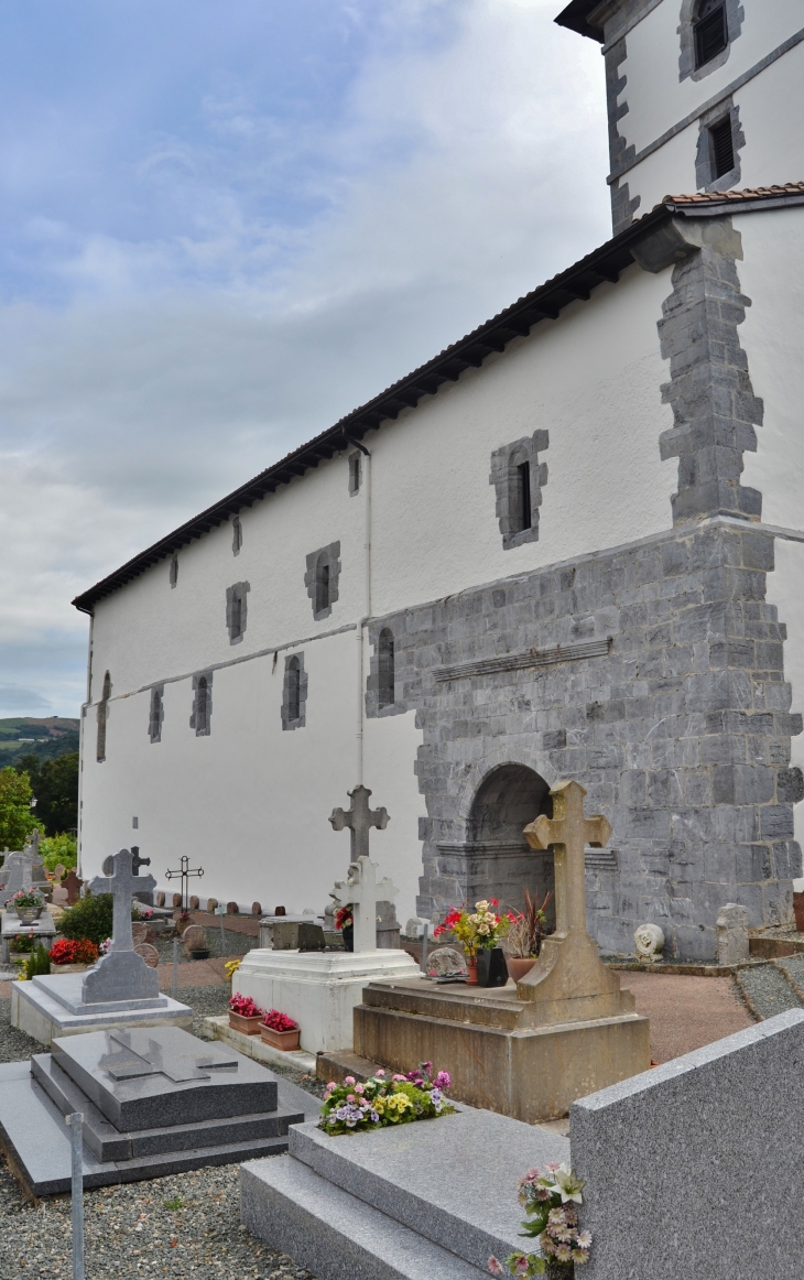
{"label": "upper part of tan stone cross, above its flared foot", "polygon": [[531,849],[553,845],[556,861],[556,933],[586,932],[584,847],[603,849],[612,828],[603,814],[584,817],[585,790],[580,782],[559,782],[551,788],[553,817],[540,814],[525,827]]}

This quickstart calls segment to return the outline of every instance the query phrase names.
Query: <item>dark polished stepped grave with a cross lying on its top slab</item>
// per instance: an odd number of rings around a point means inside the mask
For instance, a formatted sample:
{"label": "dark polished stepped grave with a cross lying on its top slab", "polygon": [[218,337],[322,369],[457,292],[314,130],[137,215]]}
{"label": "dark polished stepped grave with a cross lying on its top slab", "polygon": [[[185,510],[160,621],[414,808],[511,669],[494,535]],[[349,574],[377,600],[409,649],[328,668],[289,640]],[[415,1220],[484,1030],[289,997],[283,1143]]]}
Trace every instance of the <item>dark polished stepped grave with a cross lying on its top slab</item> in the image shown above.
{"label": "dark polished stepped grave with a cross lying on its top slab", "polygon": [[52,1053],[0,1065],[0,1129],[35,1196],[70,1189],[76,1111],[84,1184],[102,1187],[278,1155],[315,1110],[262,1064],[175,1027],[68,1036]]}

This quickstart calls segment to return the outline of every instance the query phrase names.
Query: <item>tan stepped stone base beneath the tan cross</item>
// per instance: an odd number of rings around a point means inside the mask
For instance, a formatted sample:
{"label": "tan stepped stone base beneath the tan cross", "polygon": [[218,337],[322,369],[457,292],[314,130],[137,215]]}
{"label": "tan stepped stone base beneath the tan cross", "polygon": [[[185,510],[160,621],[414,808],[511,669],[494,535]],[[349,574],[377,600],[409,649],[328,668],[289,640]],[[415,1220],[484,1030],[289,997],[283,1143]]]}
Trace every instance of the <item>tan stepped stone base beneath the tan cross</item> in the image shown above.
{"label": "tan stepped stone base beneath the tan cross", "polygon": [[647,1018],[623,1012],[529,1025],[533,1001],[515,987],[488,993],[426,979],[370,983],[355,1010],[355,1053],[397,1071],[430,1061],[451,1097],[534,1124],[650,1066]]}

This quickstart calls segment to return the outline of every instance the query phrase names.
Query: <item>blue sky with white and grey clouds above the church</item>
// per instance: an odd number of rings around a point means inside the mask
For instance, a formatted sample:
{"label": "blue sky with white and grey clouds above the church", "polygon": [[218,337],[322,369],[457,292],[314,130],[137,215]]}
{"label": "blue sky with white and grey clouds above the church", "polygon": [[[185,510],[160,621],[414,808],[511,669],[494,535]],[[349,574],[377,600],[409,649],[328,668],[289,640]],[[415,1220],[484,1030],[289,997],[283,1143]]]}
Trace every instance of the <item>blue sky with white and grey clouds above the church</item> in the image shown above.
{"label": "blue sky with white and grey clouds above the church", "polygon": [[0,717],[70,605],[611,234],[561,0],[0,0]]}

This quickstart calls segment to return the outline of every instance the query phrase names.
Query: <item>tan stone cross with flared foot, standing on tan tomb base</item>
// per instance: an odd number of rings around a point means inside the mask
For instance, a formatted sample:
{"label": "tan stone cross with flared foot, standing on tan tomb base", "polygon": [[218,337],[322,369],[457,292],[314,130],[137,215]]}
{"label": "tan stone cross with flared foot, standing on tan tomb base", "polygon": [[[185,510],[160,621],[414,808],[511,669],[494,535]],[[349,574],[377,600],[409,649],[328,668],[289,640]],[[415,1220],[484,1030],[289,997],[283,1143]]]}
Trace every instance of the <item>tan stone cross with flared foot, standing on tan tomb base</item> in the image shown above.
{"label": "tan stone cross with flared foot, standing on tan tomb base", "polygon": [[585,795],[579,782],[557,783],[551,788],[553,817],[540,814],[525,827],[530,847],[552,847],[556,864],[556,932],[544,940],[535,965],[517,983],[520,1000],[538,1002],[536,1025],[611,1018],[632,1009],[586,932],[584,849],[603,849],[612,828],[602,814],[584,815]]}

